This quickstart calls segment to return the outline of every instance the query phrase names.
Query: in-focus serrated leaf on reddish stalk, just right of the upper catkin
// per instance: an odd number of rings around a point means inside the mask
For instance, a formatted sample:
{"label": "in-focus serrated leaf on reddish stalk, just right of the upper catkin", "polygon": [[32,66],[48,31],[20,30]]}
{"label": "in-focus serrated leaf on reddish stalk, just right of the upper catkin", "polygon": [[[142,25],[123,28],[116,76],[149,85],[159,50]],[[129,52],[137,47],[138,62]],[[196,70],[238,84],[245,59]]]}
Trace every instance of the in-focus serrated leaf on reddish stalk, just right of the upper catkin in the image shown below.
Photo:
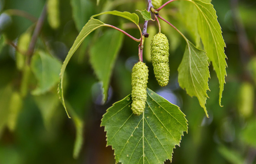
{"label": "in-focus serrated leaf on reddish stalk, just right of the upper catkin", "polygon": [[188,41],[183,59],[178,67],[178,82],[190,96],[198,98],[199,104],[204,108],[208,117],[205,106],[208,97],[206,91],[209,90],[208,78],[210,78],[207,60],[206,52],[197,49]]}

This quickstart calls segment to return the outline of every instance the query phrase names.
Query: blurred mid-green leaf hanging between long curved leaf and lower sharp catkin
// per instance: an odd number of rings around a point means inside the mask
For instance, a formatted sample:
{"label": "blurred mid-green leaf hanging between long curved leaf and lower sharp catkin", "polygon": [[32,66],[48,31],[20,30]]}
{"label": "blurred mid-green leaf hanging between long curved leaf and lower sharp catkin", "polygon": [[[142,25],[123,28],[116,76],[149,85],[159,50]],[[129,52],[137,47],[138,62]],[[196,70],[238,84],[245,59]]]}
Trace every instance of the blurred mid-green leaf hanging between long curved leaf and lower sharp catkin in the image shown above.
{"label": "blurred mid-green leaf hanging between long curved leaf and lower sharp catkin", "polygon": [[108,30],[90,49],[90,62],[99,81],[103,82],[103,101],[108,98],[108,88],[118,52],[124,35],[117,30]]}

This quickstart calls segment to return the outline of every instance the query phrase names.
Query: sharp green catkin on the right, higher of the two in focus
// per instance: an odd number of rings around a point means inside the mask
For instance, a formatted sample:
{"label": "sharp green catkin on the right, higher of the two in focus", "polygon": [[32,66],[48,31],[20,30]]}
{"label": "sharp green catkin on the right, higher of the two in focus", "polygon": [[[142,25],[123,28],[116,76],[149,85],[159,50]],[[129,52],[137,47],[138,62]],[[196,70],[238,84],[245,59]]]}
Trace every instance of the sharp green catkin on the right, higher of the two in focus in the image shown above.
{"label": "sharp green catkin on the right, higher of the two in focus", "polygon": [[169,82],[169,43],[164,34],[159,32],[151,40],[151,60],[155,78],[160,86]]}

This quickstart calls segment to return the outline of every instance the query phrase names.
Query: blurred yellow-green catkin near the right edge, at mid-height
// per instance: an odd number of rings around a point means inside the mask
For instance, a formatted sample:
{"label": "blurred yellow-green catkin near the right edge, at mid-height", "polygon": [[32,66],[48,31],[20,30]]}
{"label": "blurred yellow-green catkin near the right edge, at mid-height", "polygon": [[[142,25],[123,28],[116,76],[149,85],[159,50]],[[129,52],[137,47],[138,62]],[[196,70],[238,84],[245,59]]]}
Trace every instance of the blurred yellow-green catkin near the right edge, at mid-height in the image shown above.
{"label": "blurred yellow-green catkin near the right edge, at mid-height", "polygon": [[243,82],[238,93],[238,111],[241,116],[248,118],[253,113],[254,87],[249,82]]}

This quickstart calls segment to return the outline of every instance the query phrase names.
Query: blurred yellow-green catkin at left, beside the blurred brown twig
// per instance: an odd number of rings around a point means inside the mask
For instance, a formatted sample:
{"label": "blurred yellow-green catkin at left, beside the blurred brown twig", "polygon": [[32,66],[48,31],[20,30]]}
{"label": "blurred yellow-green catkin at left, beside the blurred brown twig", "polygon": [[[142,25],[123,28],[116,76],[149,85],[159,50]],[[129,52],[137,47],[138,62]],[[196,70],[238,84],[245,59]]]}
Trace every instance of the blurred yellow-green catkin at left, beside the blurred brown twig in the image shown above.
{"label": "blurred yellow-green catkin at left, beside the blurred brown twig", "polygon": [[[30,32],[25,32],[22,35],[20,35],[17,47],[19,51],[21,52],[27,52],[27,49],[29,47],[31,39],[31,34]],[[21,54],[20,52],[16,51],[16,65],[18,70],[22,70],[25,66],[25,59],[26,56],[24,54]]]}

